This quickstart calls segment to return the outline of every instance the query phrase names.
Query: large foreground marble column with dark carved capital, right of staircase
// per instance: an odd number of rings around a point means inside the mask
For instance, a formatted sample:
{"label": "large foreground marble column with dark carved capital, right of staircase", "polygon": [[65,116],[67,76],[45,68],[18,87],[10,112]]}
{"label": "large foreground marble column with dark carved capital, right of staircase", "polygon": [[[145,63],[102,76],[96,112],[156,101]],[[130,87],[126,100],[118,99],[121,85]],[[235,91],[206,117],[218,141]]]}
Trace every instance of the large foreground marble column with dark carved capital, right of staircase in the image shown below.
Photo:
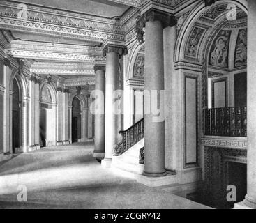
{"label": "large foreground marble column with dark carved capital, right of staircase", "polygon": [[[144,175],[165,176],[165,82],[163,29],[174,16],[151,8],[137,21],[137,38],[144,42]],[[158,113],[156,109],[160,108]]]}

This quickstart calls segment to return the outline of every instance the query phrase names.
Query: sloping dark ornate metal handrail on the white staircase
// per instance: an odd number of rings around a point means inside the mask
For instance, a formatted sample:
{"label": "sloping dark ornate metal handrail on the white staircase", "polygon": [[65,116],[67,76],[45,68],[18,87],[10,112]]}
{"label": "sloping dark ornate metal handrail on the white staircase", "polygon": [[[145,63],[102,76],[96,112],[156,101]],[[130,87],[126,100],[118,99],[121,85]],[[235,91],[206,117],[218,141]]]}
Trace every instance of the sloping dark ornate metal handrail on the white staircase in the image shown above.
{"label": "sloping dark ornate metal handrail on the white staircase", "polygon": [[144,138],[144,118],[125,131],[120,131],[121,141],[114,146],[114,156],[122,155]]}

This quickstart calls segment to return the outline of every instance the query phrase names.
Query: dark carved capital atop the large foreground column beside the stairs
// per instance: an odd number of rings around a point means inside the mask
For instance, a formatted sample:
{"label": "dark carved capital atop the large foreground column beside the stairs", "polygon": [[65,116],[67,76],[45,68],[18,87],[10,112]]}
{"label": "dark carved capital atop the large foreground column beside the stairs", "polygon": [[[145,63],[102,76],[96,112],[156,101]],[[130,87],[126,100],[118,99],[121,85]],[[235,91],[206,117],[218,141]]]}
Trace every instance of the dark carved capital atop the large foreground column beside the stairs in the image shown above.
{"label": "dark carved capital atop the large foreground column beside the stairs", "polygon": [[163,29],[167,26],[175,26],[177,23],[174,15],[151,8],[150,10],[146,11],[146,13],[136,18],[135,29],[137,33],[137,40],[140,44],[144,43],[144,29],[146,27],[146,22],[149,21],[160,21],[163,25]]}

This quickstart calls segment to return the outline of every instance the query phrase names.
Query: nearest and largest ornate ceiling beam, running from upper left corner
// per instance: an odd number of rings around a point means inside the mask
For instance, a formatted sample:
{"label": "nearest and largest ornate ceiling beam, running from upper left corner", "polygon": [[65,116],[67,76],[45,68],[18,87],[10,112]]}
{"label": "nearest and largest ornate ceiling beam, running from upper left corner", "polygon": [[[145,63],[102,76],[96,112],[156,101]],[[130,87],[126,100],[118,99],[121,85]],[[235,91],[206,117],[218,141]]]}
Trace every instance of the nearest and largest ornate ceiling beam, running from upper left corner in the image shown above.
{"label": "nearest and largest ornate ceiling beam, running from upper left corner", "polygon": [[44,33],[100,43],[107,38],[124,40],[125,33],[115,20],[29,5],[24,20],[18,19],[18,13],[17,3],[0,1],[0,29]]}

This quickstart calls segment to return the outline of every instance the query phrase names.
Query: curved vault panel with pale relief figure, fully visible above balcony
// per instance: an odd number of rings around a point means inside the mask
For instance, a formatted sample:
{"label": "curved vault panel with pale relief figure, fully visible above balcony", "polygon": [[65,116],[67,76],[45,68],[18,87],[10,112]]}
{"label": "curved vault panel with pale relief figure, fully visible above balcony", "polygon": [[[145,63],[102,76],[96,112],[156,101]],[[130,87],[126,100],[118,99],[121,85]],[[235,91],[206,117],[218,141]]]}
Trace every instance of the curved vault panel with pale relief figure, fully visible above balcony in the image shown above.
{"label": "curved vault panel with pale relief figure, fully visible above balcony", "polygon": [[211,45],[209,65],[228,68],[228,53],[231,31],[221,30]]}

